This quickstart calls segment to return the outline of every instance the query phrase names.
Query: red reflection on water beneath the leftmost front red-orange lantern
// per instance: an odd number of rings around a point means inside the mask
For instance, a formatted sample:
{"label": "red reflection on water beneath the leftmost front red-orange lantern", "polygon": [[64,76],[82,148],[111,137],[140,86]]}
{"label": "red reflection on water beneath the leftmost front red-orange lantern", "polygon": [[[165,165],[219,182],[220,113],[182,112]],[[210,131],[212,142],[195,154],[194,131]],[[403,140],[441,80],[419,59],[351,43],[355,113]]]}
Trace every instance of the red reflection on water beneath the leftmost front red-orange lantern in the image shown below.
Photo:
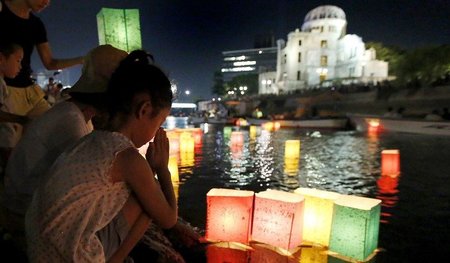
{"label": "red reflection on water beneath the leftmost front red-orange lantern", "polygon": [[249,251],[239,243],[220,242],[206,247],[208,263],[248,263]]}

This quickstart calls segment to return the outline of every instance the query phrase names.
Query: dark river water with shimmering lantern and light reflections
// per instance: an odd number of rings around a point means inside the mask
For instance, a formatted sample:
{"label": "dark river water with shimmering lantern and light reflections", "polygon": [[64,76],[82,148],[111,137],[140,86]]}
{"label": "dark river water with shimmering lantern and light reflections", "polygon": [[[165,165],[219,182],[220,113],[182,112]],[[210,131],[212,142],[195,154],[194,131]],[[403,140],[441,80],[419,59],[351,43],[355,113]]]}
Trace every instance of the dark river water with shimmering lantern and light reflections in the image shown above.
{"label": "dark river water with shimmering lantern and light reflections", "polygon": [[[195,157],[179,161],[179,214],[205,227],[211,188],[293,191],[311,187],[382,200],[373,262],[439,262],[450,250],[450,138],[400,133],[280,129],[244,133],[230,146],[230,129],[202,125]],[[284,142],[300,140],[301,154],[284,159]],[[381,151],[400,151],[401,174],[381,176]],[[330,261],[329,261],[330,262]]]}

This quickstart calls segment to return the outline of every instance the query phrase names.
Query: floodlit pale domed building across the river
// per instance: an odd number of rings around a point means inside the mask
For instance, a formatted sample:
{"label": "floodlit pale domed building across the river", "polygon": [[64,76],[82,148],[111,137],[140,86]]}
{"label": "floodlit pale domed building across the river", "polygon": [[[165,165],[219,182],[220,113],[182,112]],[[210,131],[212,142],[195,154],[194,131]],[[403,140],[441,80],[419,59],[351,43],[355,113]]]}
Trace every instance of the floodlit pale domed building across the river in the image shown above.
{"label": "floodlit pale domed building across the river", "polygon": [[277,41],[276,71],[259,75],[259,94],[386,80],[388,63],[377,60],[375,49],[366,49],[361,37],[346,31],[341,8],[324,5],[309,11],[301,30]]}

